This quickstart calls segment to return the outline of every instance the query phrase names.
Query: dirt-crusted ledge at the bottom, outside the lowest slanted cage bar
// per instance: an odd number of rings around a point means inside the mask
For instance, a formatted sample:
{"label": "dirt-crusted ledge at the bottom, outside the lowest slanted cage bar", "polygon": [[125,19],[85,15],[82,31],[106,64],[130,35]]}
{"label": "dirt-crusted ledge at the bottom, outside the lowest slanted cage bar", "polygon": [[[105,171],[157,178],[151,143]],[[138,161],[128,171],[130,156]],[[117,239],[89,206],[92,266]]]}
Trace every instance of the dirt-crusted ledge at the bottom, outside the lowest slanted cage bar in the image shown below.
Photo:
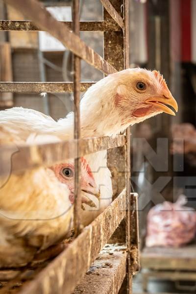
{"label": "dirt-crusted ledge at the bottom, outside the lowest slanted cage bar", "polygon": [[74,294],[81,294],[81,289],[83,293],[118,294],[126,274],[125,249],[124,245],[106,245],[77,284]]}

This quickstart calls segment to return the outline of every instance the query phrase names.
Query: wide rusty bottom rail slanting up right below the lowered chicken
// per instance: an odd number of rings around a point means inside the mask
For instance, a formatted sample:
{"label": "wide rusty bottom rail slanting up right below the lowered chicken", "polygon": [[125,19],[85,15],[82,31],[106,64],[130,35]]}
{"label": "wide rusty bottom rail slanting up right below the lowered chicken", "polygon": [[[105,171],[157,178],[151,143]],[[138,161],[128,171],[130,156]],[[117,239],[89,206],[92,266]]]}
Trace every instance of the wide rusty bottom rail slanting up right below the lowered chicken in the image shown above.
{"label": "wide rusty bottom rail slanting up right below the lowered chicken", "polygon": [[[20,294],[71,294],[125,217],[124,191]],[[123,208],[124,207],[124,208]]]}

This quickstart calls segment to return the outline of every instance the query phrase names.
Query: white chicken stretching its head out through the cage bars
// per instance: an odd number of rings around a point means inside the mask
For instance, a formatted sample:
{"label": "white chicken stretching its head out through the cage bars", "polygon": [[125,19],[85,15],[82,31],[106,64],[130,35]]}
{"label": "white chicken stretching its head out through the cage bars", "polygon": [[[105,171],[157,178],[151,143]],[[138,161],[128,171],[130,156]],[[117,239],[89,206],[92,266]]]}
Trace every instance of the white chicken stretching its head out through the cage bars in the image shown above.
{"label": "white chicken stretching its head out through the cage bars", "polygon": [[[113,136],[162,112],[175,115],[167,105],[177,111],[177,102],[159,72],[136,68],[111,74],[90,87],[80,102],[81,136]],[[0,112],[0,123],[19,130],[23,139],[30,132],[54,134],[64,140],[73,138],[73,113],[56,122],[34,110],[12,108]],[[84,224],[112,200],[107,151],[90,154],[86,159],[99,185],[100,201],[98,211],[82,212]]]}

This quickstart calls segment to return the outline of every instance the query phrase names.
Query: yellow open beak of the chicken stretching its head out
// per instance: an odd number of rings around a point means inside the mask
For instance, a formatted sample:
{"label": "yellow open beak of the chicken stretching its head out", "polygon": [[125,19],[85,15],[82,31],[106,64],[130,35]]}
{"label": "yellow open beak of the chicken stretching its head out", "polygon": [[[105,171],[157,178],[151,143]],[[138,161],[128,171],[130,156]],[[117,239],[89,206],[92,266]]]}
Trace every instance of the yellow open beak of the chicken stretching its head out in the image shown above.
{"label": "yellow open beak of the chicken stretching its head out", "polygon": [[162,111],[162,112],[171,114],[173,116],[175,116],[174,111],[171,108],[169,108],[167,105],[172,106],[176,112],[178,111],[177,102],[173,98],[172,94],[168,95],[168,97],[165,95],[160,95],[157,97],[148,98],[146,102],[151,103],[153,107],[157,109],[158,111]]}

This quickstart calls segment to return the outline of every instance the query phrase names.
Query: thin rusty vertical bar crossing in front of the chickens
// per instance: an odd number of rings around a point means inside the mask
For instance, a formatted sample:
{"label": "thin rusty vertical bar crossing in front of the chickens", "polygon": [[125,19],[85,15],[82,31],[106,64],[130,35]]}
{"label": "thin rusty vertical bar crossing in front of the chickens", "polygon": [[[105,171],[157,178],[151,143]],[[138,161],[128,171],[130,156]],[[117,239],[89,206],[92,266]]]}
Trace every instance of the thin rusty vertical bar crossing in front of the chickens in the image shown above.
{"label": "thin rusty vertical bar crossing in front of the chickens", "polygon": [[[79,36],[79,0],[73,0],[73,31]],[[76,55],[73,57],[73,92],[74,92],[74,139],[80,138],[80,58]],[[74,173],[74,232],[77,236],[81,231],[80,225],[80,210],[81,210],[81,162],[79,144],[77,144],[78,158],[75,159],[75,173]]]}

